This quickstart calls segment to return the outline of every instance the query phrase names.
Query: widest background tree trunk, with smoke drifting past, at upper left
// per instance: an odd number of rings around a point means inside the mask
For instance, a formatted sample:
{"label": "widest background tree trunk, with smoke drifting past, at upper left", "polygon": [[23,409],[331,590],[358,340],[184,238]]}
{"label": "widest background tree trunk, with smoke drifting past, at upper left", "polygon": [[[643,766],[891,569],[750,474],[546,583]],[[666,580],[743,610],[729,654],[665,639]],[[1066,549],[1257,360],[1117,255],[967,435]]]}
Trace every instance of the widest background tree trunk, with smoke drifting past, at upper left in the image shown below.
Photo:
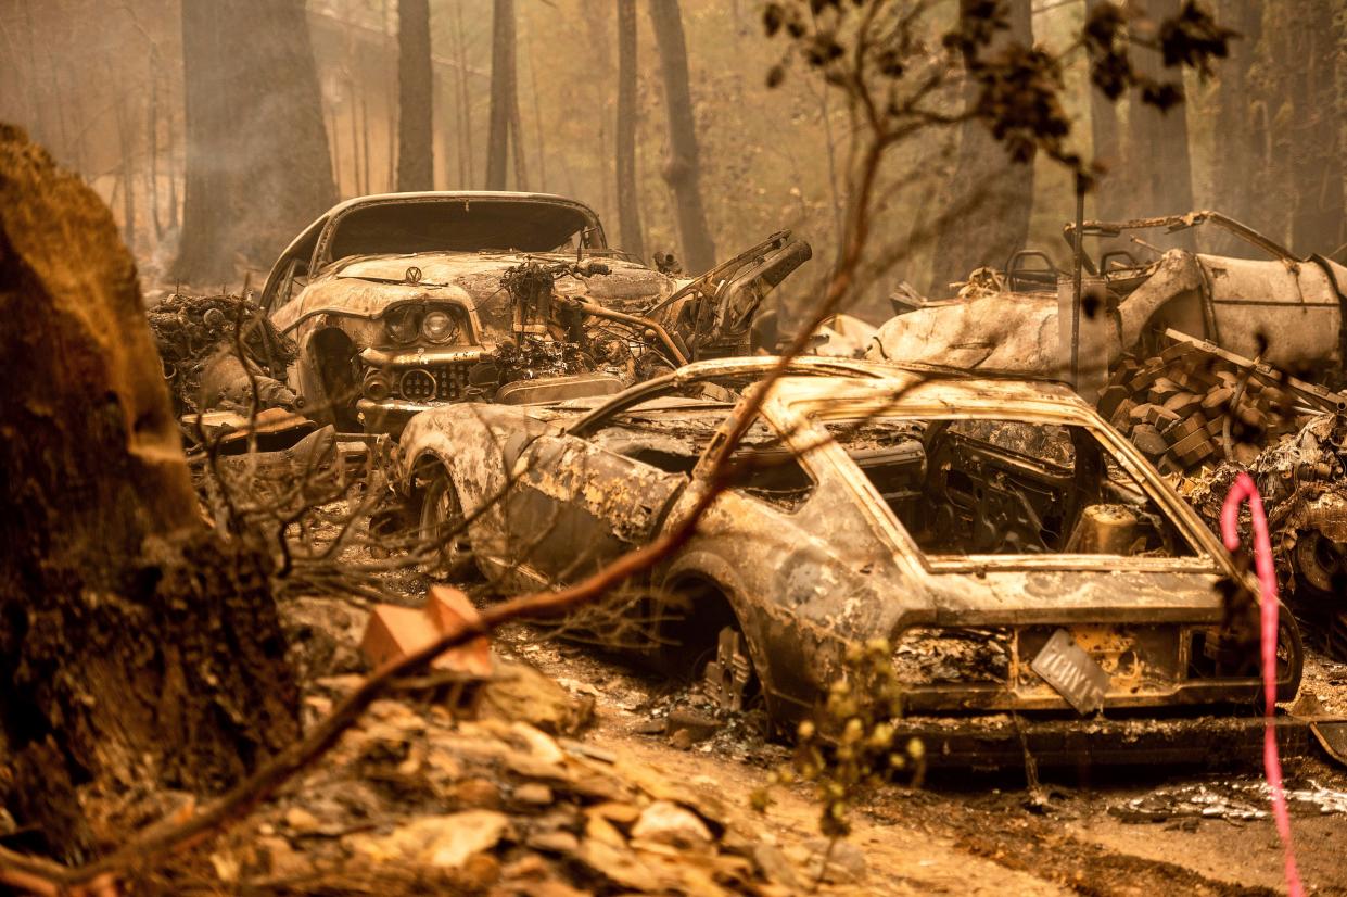
{"label": "widest background tree trunk, with smoke drifting past, at upper left", "polygon": [[187,187],[179,279],[265,268],[335,202],[303,0],[182,0]]}

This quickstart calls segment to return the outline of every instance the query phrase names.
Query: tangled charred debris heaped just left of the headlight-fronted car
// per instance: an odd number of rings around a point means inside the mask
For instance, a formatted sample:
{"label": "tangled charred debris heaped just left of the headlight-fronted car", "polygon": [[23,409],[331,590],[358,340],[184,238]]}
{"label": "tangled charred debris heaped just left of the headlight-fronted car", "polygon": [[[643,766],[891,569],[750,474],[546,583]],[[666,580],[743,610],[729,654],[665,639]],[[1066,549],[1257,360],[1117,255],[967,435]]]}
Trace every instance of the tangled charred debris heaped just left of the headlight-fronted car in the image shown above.
{"label": "tangled charred debris heaped just left of the headlight-fronted car", "polygon": [[286,387],[295,343],[251,299],[175,292],[148,318],[179,416],[211,408],[247,415],[255,391],[259,408],[295,408],[295,393]]}

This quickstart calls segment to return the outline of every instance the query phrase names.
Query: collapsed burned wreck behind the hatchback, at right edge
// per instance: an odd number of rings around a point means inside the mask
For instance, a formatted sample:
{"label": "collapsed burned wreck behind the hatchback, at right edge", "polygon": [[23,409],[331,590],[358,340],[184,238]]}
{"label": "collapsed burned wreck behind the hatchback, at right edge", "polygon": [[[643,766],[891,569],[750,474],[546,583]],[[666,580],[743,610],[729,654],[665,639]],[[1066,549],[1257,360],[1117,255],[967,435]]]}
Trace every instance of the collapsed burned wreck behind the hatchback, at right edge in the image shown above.
{"label": "collapsed burned wreck behind the hatchback, at right edge", "polygon": [[[1266,259],[1187,249],[1153,249],[1158,257],[1152,260],[1137,260],[1119,249],[1098,257],[1083,255],[1086,314],[1078,334],[1082,395],[1092,397],[1123,356],[1157,354],[1169,329],[1277,368],[1313,366],[1340,376],[1347,345],[1343,265],[1321,256],[1297,257],[1215,211],[1086,222],[1083,236],[1107,241],[1133,230],[1173,233],[1208,224],[1235,234]],[[1074,233],[1075,226],[1067,225],[1068,242]],[[1016,253],[1005,271],[975,273],[983,277],[970,279],[959,299],[894,299],[900,314],[880,329],[869,357],[1013,370],[1026,377],[1070,372],[1075,303],[1070,273],[1057,271],[1037,251]]]}

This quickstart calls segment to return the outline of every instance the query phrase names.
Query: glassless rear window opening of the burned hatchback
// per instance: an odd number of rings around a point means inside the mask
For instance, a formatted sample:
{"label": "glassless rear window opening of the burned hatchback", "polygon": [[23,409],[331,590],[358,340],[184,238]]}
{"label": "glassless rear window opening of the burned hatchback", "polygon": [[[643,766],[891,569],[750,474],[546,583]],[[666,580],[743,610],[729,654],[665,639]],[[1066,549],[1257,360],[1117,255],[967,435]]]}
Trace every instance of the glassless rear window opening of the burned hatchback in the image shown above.
{"label": "glassless rear window opening of the burned hatchback", "polygon": [[1086,427],[985,419],[824,426],[928,555],[1196,555]]}

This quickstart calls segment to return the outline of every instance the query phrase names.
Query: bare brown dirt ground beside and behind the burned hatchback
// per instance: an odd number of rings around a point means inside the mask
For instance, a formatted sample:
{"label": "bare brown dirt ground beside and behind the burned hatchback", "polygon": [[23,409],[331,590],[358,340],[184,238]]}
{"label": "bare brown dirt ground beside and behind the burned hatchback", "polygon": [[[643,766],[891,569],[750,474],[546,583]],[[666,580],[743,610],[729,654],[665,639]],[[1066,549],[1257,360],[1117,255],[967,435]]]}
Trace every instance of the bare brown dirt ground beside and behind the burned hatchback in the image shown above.
{"label": "bare brown dirt ground beside and behind the burned hatchback", "polygon": [[[502,640],[563,687],[595,699],[589,738],[633,756],[672,777],[714,787],[749,804],[769,769],[788,758],[784,746],[718,735],[680,750],[664,734],[640,734],[661,700],[680,687],[633,672],[617,660],[564,644],[539,641],[520,628]],[[1340,706],[1347,665],[1315,660],[1305,688]],[[1347,893],[1347,774],[1317,757],[1288,761],[1300,873],[1312,893]],[[850,842],[865,859],[855,893],[1284,893],[1282,853],[1259,769],[1226,774],[1134,769],[1095,781],[1080,774],[1041,776],[1036,796],[1022,774],[944,776],[920,791],[885,788],[855,818]],[[803,789],[773,792],[761,816],[783,844],[818,838],[818,811]],[[1312,803],[1311,796],[1319,803]],[[1149,801],[1152,815],[1127,812]],[[1224,811],[1224,812],[1220,812]],[[1202,815],[1206,812],[1206,815]],[[1242,816],[1258,816],[1253,819]]]}

